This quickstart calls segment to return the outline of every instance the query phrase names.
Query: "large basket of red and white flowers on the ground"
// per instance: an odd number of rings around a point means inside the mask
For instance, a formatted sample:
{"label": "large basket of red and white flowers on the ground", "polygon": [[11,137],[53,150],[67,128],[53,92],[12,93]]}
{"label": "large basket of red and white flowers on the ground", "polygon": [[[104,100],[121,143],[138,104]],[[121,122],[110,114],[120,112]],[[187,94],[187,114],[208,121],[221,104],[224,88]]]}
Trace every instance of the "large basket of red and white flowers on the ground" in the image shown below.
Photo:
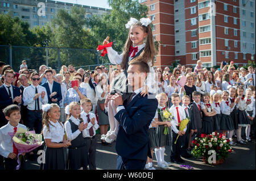
{"label": "large basket of red and white flowers on the ground", "polygon": [[194,157],[203,157],[203,160],[208,164],[208,158],[212,153],[216,154],[216,161],[224,161],[228,157],[228,153],[232,152],[230,146],[232,138],[227,139],[224,134],[213,132],[212,134],[201,134],[199,138],[195,138],[192,143],[195,145],[191,153]]}

